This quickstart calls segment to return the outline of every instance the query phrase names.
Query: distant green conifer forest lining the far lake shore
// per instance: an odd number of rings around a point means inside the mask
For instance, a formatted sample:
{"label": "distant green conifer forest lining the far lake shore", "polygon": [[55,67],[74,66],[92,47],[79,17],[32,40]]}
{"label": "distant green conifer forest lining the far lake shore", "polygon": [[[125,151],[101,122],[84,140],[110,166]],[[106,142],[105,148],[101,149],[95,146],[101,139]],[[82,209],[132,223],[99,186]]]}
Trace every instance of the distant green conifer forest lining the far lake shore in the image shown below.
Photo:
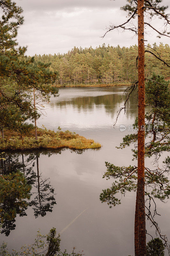
{"label": "distant green conifer forest lining the far lake shore", "polygon": [[[145,48],[170,63],[168,44],[148,44]],[[51,63],[51,70],[58,73],[55,84],[60,85],[125,83],[137,79],[137,45],[121,48],[103,44],[95,49],[74,47],[65,54],[35,54],[35,59]],[[149,52],[145,53],[145,63],[146,77],[152,72],[170,76],[170,69]]]}

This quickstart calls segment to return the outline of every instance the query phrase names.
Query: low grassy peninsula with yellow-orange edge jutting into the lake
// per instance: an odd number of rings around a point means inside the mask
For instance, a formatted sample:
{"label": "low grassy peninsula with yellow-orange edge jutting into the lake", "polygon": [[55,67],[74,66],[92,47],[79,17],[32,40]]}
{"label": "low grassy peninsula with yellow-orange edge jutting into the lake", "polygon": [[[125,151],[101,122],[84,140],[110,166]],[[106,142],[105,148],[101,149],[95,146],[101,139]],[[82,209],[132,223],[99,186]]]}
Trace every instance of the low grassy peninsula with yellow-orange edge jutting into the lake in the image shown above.
{"label": "low grassy peninsula with yellow-orange edge jutting into the lake", "polygon": [[100,148],[101,145],[94,140],[70,131],[51,131],[37,128],[37,140],[34,129],[26,134],[19,131],[5,130],[4,139],[0,137],[0,150],[26,150],[26,149],[57,149],[57,148]]}

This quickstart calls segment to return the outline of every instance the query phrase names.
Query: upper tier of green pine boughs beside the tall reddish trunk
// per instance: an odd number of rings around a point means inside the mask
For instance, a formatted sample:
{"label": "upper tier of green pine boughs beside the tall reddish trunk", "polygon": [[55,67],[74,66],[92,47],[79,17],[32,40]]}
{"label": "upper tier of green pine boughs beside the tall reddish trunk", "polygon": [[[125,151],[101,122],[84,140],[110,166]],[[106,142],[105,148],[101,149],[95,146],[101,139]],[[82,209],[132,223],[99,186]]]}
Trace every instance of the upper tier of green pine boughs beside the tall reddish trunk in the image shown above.
{"label": "upper tier of green pine boughs beside the tall reddish trunk", "polygon": [[[152,81],[146,83],[145,113],[145,155],[159,158],[162,152],[170,150],[170,92],[168,81],[161,75],[153,74]],[[158,83],[157,83],[158,82]],[[134,126],[137,127],[136,119]],[[137,158],[137,133],[126,135],[119,148],[133,144],[134,157]]]}

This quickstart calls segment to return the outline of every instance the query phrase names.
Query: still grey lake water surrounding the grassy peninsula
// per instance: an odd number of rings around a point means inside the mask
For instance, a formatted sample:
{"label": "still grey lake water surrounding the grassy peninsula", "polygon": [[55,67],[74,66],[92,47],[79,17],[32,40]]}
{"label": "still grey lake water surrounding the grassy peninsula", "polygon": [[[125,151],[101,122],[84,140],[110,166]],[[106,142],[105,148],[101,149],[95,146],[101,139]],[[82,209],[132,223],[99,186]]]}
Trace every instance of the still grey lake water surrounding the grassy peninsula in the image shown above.
{"label": "still grey lake water surrounding the grassy peninsula", "polygon": [[[24,152],[25,163],[33,166],[35,172],[38,157],[41,179],[49,178],[55,190],[56,204],[52,212],[47,212],[44,217],[38,215],[37,218],[33,207],[28,207],[27,216],[17,215],[16,227],[9,236],[0,235],[1,243],[5,241],[8,248],[19,249],[22,244],[33,243],[39,228],[42,234],[47,234],[50,228],[55,227],[61,233],[61,248],[69,252],[76,246],[77,251],[84,250],[86,256],[134,255],[135,194],[126,194],[122,204],[112,209],[107,204],[101,204],[99,199],[102,189],[112,183],[112,180],[102,179],[106,170],[105,161],[119,166],[137,164],[131,161],[130,148],[115,148],[129,133],[127,130],[120,132],[120,124],[128,127],[137,116],[136,100],[130,98],[126,113],[121,113],[113,128],[117,111],[124,102],[125,88],[61,88],[59,97],[51,97],[50,103],[45,106],[46,116],[38,120],[38,126],[44,125],[55,131],[60,126],[62,130],[70,130],[100,142],[102,148],[84,152],[70,149],[36,151],[32,154]],[[22,163],[20,153],[11,153],[10,157],[13,163]],[[26,162],[28,157],[30,159]],[[35,187],[33,189],[36,190]],[[158,212],[161,214],[157,218],[161,231],[170,236],[169,202],[158,202]],[[147,226],[150,230],[148,222]],[[151,233],[155,236],[154,228]]]}

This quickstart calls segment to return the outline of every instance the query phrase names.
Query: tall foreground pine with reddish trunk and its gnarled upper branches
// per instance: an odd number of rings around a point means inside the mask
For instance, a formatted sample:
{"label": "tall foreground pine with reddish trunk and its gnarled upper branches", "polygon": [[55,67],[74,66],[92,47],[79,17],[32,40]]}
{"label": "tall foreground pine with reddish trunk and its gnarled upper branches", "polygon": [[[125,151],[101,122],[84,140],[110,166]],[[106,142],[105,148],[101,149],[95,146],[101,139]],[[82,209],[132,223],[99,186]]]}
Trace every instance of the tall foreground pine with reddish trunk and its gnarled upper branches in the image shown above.
{"label": "tall foreground pine with reddish trunk and its gnarled upper branches", "polygon": [[[159,56],[149,50],[144,48],[144,25],[151,27],[154,31],[157,31],[159,36],[169,36],[169,31],[167,29],[170,25],[168,15],[165,14],[167,6],[160,6],[159,4],[162,1],[159,0],[128,0],[127,4],[122,7],[122,10],[128,12],[129,19],[121,25],[115,26],[112,25],[107,30],[107,32],[115,28],[123,28],[129,31],[133,31],[138,35],[138,81],[130,88],[130,93],[138,85],[138,145],[137,145],[137,198],[136,198],[136,214],[135,214],[135,228],[137,231],[137,236],[135,236],[135,255],[136,256],[146,256],[146,224],[145,224],[145,198],[144,198],[144,185],[145,185],[145,166],[144,166],[144,156],[145,156],[145,52],[149,52],[158,58],[160,61],[163,61],[168,67],[164,60],[161,60]],[[158,29],[151,25],[152,19],[154,16],[158,16],[160,19],[164,19],[164,28],[163,32],[160,32]],[[137,18],[137,26],[135,26],[135,18]],[[144,21],[148,19],[149,22]],[[128,26],[129,25],[129,26]],[[106,33],[107,33],[106,32]],[[105,33],[105,35],[106,35]],[[104,36],[105,36],[104,35]],[[129,93],[129,94],[130,94]],[[129,98],[129,95],[128,95]],[[127,98],[127,100],[128,100]],[[126,102],[124,104],[124,109],[126,107]]]}

